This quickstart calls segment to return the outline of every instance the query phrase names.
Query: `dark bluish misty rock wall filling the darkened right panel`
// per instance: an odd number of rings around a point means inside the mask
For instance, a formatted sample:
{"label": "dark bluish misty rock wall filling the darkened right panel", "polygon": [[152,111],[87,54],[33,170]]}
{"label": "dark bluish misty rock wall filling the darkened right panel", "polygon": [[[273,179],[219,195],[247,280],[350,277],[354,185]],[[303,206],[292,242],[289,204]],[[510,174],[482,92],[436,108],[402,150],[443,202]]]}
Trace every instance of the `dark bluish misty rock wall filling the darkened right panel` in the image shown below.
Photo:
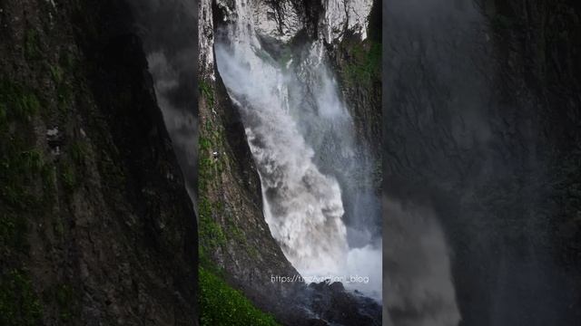
{"label": "dark bluish misty rock wall filling the darkened right panel", "polygon": [[385,5],[386,196],[438,216],[460,324],[575,324],[578,5]]}

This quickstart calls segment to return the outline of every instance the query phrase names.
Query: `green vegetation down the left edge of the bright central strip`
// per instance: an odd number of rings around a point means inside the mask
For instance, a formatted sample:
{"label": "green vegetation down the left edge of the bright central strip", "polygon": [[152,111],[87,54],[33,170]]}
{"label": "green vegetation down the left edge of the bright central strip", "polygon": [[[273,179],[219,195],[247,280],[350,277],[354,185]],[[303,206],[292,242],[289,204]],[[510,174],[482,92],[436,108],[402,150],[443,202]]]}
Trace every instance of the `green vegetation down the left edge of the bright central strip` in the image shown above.
{"label": "green vegetation down the left edge of the bright central strip", "polygon": [[[215,103],[212,86],[208,82],[200,82],[200,93],[207,100],[209,106]],[[225,246],[229,239],[244,245],[246,243],[243,232],[227,216],[221,199],[216,196],[213,186],[221,180],[222,170],[227,166],[228,157],[219,152],[225,146],[223,129],[219,125],[212,125],[210,117],[203,121],[200,129],[199,160],[198,160],[198,217],[200,235],[200,307],[201,324],[203,326],[236,326],[236,325],[278,325],[271,315],[261,312],[254,307],[244,295],[233,289],[222,278],[223,271],[212,262],[210,253]],[[222,186],[222,185],[221,185]],[[217,216],[224,217],[227,225],[217,222]],[[249,251],[258,256],[258,251]]]}

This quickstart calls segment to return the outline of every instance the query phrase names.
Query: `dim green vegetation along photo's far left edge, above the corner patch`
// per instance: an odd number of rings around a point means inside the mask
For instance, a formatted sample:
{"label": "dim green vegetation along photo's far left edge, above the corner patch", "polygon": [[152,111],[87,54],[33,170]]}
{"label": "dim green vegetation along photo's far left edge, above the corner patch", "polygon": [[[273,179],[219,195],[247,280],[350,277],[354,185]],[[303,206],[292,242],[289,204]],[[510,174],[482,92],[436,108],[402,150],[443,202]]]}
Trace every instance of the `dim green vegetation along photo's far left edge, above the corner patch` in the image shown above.
{"label": "dim green vegetation along photo's far left edge, above the corner patch", "polygon": [[[53,194],[51,163],[35,148],[30,120],[40,111],[31,89],[0,81],[0,254],[25,253],[27,216],[42,214]],[[39,182],[41,180],[42,182]]]}

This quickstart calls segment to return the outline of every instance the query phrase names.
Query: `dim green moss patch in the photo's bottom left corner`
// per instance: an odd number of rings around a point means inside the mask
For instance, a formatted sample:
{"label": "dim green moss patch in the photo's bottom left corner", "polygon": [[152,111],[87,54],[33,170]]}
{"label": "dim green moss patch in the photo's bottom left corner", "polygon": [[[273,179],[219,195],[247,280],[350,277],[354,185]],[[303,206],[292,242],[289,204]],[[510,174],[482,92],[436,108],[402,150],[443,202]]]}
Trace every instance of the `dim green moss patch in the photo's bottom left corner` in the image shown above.
{"label": "dim green moss patch in the photo's bottom left corner", "polygon": [[27,273],[12,270],[0,276],[0,325],[37,325],[42,314],[43,307]]}

